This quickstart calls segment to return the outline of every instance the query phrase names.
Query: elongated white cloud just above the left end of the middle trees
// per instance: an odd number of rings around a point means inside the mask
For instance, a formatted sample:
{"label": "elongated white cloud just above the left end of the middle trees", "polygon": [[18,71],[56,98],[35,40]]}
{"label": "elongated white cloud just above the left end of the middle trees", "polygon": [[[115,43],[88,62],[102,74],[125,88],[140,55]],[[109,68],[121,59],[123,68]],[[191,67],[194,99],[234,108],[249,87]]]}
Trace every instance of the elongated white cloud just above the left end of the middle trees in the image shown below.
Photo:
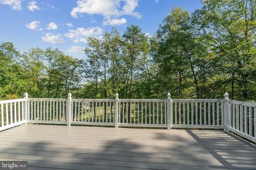
{"label": "elongated white cloud just above the left end of the middle trees", "polygon": [[69,37],[71,39],[74,38],[84,38],[94,35],[100,35],[103,32],[103,29],[101,27],[88,27],[85,28],[77,28],[77,29],[70,29],[68,30],[69,33],[66,33],[65,36]]}

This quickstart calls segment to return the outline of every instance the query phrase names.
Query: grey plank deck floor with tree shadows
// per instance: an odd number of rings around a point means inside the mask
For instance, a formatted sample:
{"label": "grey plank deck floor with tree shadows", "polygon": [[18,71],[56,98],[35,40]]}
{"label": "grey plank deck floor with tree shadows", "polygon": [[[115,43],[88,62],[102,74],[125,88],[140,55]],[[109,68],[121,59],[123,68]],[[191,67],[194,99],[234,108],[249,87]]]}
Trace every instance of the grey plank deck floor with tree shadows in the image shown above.
{"label": "grey plank deck floor with tree shadows", "polygon": [[0,133],[0,160],[29,170],[256,169],[256,147],[223,131],[24,125]]}

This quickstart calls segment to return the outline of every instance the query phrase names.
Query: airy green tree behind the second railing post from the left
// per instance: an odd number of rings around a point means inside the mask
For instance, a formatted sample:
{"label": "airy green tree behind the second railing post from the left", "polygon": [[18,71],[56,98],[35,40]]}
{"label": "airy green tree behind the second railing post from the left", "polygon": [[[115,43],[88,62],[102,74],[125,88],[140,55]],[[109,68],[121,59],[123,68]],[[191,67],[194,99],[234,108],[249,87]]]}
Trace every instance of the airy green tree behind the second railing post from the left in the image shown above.
{"label": "airy green tree behind the second railing post from the left", "polygon": [[48,63],[47,76],[44,80],[46,95],[54,98],[67,98],[72,89],[77,91],[78,84],[81,86],[79,77],[82,75],[82,60],[64,55],[57,48],[51,49],[50,47],[46,49],[45,57]]}

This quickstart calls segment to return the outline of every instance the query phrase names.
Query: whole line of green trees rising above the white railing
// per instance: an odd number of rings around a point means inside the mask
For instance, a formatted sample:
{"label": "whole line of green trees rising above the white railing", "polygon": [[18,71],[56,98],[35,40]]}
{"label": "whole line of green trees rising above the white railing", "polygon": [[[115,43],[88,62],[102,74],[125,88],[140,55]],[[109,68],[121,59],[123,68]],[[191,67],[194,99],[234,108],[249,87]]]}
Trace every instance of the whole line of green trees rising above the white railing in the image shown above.
{"label": "whole line of green trees rising above the white railing", "polygon": [[256,98],[256,0],[173,7],[153,37],[130,25],[88,37],[85,59],[0,44],[0,98]]}

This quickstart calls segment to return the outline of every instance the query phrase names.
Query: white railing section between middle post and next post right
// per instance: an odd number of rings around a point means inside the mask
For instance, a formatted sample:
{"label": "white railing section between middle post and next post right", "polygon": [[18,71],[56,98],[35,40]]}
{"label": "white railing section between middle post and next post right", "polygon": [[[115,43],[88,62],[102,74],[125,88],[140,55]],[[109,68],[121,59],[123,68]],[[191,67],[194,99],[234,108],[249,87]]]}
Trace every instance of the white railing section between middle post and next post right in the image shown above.
{"label": "white railing section between middle post and next post right", "polygon": [[118,126],[167,128],[166,99],[119,99]]}

